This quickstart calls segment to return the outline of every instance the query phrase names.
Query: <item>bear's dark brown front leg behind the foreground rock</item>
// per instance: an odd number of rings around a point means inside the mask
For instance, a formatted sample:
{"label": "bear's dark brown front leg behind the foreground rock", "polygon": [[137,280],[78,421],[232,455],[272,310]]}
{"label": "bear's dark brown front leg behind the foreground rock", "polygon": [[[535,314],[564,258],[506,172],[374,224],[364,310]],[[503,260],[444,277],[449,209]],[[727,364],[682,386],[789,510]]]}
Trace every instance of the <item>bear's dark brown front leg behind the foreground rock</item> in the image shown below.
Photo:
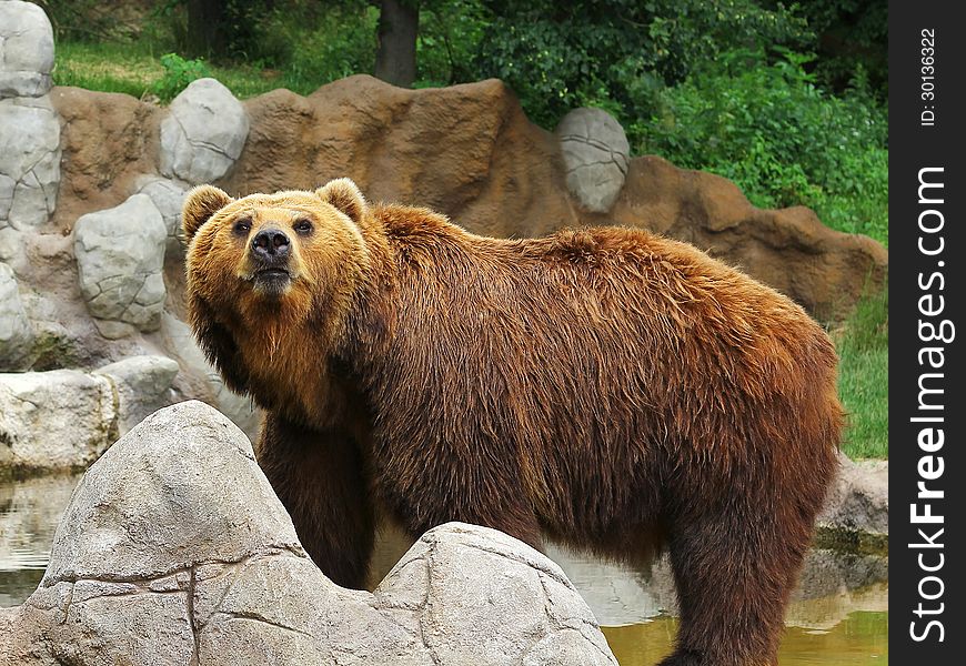
{"label": "bear's dark brown front leg behind the foreground rock", "polygon": [[313,562],[335,584],[362,589],[375,526],[353,438],[269,413],[256,457]]}

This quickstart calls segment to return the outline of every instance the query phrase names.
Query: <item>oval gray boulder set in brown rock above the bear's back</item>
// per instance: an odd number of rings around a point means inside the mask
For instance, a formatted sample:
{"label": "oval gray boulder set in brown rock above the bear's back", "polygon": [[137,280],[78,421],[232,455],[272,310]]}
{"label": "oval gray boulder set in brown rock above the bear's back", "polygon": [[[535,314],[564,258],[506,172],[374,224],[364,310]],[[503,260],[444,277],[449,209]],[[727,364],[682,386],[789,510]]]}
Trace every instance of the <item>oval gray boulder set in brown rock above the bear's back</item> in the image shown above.
{"label": "oval gray boulder set in brown rock above the bear's back", "polygon": [[571,194],[592,213],[614,205],[631,164],[631,144],[602,109],[574,109],[556,128]]}

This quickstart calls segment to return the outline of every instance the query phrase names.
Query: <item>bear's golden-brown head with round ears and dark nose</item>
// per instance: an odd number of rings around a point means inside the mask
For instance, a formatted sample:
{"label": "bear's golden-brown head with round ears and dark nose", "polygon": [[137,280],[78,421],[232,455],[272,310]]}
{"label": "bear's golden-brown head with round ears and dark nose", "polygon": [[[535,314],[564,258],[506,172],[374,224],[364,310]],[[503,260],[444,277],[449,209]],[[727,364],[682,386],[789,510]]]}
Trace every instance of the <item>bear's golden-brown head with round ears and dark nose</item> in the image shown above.
{"label": "bear's golden-brown head with round ears and dark nose", "polygon": [[271,312],[309,316],[313,302],[338,310],[368,262],[366,214],[349,179],[241,199],[194,188],[182,210],[189,307],[202,303],[225,321],[234,311],[248,326]]}

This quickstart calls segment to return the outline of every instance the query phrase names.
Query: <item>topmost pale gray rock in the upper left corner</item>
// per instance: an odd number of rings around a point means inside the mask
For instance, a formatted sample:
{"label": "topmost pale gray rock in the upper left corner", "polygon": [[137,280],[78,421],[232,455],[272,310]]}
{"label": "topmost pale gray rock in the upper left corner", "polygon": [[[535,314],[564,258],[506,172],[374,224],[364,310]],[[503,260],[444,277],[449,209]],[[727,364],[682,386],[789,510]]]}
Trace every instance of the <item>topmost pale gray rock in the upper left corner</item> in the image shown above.
{"label": "topmost pale gray rock in the upper left corner", "polygon": [[50,91],[53,28],[33,2],[0,1],[0,98]]}

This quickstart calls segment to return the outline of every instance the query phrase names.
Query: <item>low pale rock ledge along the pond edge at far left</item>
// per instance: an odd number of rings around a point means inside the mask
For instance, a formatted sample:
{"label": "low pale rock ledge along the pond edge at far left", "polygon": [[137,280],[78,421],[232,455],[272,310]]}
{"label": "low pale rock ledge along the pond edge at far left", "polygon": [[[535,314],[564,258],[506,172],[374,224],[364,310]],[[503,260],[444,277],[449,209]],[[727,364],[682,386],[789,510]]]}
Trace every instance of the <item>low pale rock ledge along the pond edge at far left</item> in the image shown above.
{"label": "low pale rock ledge along the pond edge at far left", "polygon": [[132,356],[92,373],[0,373],[0,465],[89,465],[119,434],[171,403],[177,372],[170,359]]}

